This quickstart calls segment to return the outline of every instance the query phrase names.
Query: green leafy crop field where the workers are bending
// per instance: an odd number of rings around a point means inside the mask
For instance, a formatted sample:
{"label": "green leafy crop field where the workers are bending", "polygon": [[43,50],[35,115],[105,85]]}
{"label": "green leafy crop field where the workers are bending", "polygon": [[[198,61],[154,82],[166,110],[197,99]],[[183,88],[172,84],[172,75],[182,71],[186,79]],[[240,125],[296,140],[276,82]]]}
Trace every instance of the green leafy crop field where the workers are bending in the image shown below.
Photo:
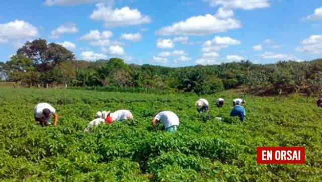
{"label": "green leafy crop field where the workers are bending", "polygon": [[[234,91],[202,96],[209,119],[197,114],[197,95],[84,90],[0,89],[0,179],[47,181],[321,181],[322,111],[315,98],[255,97]],[[223,108],[214,106],[223,97]],[[245,122],[229,117],[243,97]],[[57,127],[34,121],[38,102],[52,104]],[[135,122],[83,132],[100,110],[129,109]],[[153,130],[160,110],[180,118],[177,133]],[[214,117],[223,117],[217,121]],[[304,146],[305,164],[256,164],[257,146]]]}

